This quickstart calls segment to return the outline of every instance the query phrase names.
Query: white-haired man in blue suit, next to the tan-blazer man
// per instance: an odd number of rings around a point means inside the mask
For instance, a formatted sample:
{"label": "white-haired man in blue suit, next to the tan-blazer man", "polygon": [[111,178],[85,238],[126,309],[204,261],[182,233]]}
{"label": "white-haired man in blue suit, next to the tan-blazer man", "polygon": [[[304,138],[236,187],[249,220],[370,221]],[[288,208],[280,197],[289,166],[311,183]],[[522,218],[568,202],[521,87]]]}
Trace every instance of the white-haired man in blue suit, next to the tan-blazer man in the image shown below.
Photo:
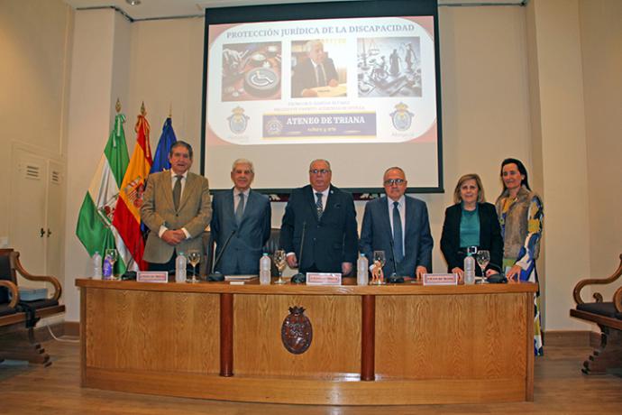
{"label": "white-haired man in blue suit, next to the tan-blazer man", "polygon": [[272,213],[270,198],[251,189],[254,178],[251,161],[233,161],[233,189],[214,195],[211,231],[216,243],[215,258],[220,255],[216,272],[259,273],[261,248],[270,237]]}

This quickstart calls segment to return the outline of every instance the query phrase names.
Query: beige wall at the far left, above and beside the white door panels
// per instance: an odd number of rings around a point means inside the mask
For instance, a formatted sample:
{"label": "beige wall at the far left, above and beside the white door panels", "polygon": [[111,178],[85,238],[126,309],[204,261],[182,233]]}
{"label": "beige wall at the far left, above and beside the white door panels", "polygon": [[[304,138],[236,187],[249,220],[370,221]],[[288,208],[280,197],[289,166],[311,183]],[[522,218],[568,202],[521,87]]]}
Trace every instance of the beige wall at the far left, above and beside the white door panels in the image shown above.
{"label": "beige wall at the far left, above and beside the white door panels", "polygon": [[59,0],[0,2],[0,238],[8,237],[11,220],[12,144],[65,155],[72,17]]}

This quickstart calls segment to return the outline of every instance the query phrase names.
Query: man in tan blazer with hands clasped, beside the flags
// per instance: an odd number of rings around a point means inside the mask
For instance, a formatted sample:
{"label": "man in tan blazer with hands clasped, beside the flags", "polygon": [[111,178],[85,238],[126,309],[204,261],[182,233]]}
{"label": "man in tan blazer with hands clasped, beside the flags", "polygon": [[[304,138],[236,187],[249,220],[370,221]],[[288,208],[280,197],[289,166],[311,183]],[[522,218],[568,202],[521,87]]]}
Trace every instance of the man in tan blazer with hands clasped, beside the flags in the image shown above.
{"label": "man in tan blazer with hands clasped, beside the flags", "polygon": [[201,252],[201,235],[212,217],[207,179],[188,171],[190,144],[174,143],[169,161],[170,171],[151,174],[142,195],[141,217],[151,231],[143,259],[152,271],[174,270],[179,252]]}

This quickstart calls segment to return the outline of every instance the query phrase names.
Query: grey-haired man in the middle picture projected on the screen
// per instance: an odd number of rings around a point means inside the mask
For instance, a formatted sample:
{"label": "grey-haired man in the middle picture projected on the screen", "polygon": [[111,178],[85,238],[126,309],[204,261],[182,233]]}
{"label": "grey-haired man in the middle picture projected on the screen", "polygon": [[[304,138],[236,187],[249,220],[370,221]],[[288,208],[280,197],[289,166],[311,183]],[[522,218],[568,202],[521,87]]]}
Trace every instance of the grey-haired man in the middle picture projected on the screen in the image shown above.
{"label": "grey-haired man in the middle picture projected on the screen", "polygon": [[291,77],[292,97],[317,97],[316,87],[336,87],[339,85],[337,69],[332,59],[326,56],[321,41],[305,44],[307,59],[297,63]]}

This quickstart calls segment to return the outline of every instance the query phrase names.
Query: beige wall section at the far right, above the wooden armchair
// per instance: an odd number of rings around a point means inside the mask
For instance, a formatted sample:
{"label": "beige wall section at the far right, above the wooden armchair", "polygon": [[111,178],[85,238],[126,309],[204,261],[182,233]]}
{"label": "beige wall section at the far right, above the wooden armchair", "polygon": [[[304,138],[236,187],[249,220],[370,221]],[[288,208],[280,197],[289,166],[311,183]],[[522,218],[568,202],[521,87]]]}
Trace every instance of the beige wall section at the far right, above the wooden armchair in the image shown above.
{"label": "beige wall section at the far right, above the wooden armchair", "polygon": [[[590,275],[605,278],[616,270],[622,254],[622,2],[582,1],[579,11],[590,194]],[[587,276],[575,273],[573,278],[578,281]],[[595,291],[611,298],[615,288],[599,287]],[[589,293],[583,299],[589,300]]]}

